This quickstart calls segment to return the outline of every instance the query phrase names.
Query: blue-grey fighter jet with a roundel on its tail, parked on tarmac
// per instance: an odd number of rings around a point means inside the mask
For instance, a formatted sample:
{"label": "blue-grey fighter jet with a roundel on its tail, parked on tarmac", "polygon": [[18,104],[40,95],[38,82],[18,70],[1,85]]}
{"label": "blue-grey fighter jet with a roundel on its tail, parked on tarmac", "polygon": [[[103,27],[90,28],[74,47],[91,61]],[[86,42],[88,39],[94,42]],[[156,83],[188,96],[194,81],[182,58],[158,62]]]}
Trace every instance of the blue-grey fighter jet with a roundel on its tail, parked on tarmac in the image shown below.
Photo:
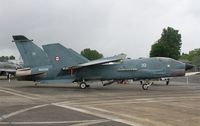
{"label": "blue-grey fighter jet with a roundel on its tail, parked on tarmac", "polygon": [[151,79],[184,76],[188,66],[180,61],[164,58],[126,59],[124,54],[89,61],[70,48],[59,43],[43,45],[43,49],[23,35],[13,36],[24,62],[23,69],[17,69],[19,80],[36,83],[77,82],[81,89],[88,81],[147,80],[142,88],[147,90]]}

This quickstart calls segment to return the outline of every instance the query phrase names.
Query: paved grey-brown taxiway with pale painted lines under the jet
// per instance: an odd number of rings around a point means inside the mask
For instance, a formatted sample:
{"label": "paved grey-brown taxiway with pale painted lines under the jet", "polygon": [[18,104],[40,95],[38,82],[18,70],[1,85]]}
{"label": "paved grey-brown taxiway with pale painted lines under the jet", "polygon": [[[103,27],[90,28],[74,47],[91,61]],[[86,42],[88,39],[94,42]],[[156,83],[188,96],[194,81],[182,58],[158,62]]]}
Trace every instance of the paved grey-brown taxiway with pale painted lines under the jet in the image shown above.
{"label": "paved grey-brown taxiway with pale painted lines under the jet", "polygon": [[[160,83],[160,84],[158,84]],[[0,125],[199,126],[200,84],[138,82],[88,89],[0,80]]]}

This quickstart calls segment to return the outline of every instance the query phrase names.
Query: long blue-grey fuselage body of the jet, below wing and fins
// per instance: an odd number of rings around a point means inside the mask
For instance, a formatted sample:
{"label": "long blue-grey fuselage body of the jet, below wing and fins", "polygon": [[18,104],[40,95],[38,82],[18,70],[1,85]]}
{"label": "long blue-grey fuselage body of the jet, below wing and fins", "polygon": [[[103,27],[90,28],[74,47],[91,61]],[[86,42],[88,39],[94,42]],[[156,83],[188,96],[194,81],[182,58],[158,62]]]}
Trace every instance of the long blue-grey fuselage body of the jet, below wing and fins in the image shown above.
{"label": "long blue-grey fuselage body of the jet, below wing and fins", "polygon": [[[44,74],[35,74],[42,73]],[[18,73],[17,73],[18,74]],[[33,76],[35,74],[35,76]],[[32,68],[30,77],[22,80],[48,82],[57,80],[65,83],[68,79],[74,81],[89,80],[125,80],[125,79],[156,79],[161,77],[175,77],[185,75],[185,64],[171,58],[145,58],[134,60],[123,60],[122,62],[93,65],[68,71],[62,68],[54,68],[51,65]]]}

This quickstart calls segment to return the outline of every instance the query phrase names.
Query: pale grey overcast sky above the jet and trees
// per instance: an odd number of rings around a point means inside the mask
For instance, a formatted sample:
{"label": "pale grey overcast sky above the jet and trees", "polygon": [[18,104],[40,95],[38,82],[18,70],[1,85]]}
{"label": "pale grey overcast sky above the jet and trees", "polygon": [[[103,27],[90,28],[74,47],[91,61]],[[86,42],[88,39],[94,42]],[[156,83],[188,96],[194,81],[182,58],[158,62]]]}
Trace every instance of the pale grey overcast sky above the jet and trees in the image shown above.
{"label": "pale grey overcast sky above the jet and trees", "polygon": [[0,56],[19,56],[12,35],[41,46],[148,57],[162,29],[182,35],[182,52],[200,48],[199,0],[0,0]]}

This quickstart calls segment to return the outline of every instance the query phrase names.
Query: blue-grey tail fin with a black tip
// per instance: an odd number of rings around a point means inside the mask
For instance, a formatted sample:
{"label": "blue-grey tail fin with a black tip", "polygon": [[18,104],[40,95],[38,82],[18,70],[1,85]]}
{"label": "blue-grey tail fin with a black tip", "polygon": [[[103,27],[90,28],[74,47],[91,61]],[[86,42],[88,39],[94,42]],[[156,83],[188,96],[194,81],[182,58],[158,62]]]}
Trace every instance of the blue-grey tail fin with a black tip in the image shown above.
{"label": "blue-grey tail fin with a black tip", "polygon": [[14,35],[13,39],[22,56],[24,67],[49,65],[46,53],[23,35]]}

